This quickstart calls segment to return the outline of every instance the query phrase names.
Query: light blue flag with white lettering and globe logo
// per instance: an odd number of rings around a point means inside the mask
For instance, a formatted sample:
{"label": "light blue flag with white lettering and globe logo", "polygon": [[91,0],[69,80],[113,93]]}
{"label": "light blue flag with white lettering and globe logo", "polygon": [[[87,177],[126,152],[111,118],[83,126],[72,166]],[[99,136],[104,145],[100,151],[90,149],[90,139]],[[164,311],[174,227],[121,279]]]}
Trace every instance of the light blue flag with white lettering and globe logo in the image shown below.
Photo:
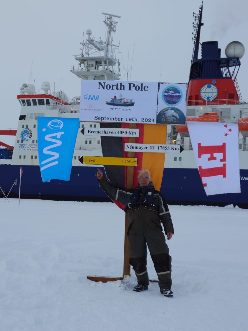
{"label": "light blue flag with white lettering and globe logo", "polygon": [[79,118],[37,117],[38,154],[43,182],[70,180]]}

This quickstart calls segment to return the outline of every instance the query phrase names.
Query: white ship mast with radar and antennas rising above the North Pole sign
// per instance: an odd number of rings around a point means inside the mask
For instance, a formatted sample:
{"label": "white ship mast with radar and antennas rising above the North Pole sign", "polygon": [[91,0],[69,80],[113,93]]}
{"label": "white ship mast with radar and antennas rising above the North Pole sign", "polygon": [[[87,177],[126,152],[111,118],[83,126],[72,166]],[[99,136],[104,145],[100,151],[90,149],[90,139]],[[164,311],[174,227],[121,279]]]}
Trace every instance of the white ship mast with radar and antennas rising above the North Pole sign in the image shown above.
{"label": "white ship mast with radar and antennas rising above the North Pole sign", "polygon": [[[120,16],[107,13],[102,14],[106,15],[103,21],[107,26],[106,40],[103,42],[100,37],[99,41],[97,41],[90,29],[86,31],[87,39],[81,43],[82,52],[80,55],[75,55],[79,65],[73,66],[71,70],[79,78],[95,80],[120,79],[120,62],[115,57],[119,45],[113,44],[115,26],[118,23],[113,20],[113,17],[120,18]],[[117,70],[115,69],[116,64],[118,64]]]}

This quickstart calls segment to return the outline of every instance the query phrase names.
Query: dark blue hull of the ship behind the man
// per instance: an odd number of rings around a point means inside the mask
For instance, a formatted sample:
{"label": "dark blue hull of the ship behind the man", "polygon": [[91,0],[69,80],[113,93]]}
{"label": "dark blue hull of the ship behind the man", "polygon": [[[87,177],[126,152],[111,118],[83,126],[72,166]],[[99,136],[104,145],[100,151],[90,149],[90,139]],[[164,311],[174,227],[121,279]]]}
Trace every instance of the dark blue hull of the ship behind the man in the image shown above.
{"label": "dark blue hull of the ship behind the man", "polygon": [[[22,166],[21,198],[69,201],[110,201],[99,187],[95,167],[73,166],[69,181],[51,180],[43,183],[39,166]],[[104,171],[104,169],[102,168]],[[241,193],[207,196],[197,169],[164,168],[161,192],[169,204],[182,205],[237,205],[248,208],[248,170],[240,170]],[[0,186],[5,195],[19,197],[20,166],[1,165]],[[4,198],[1,192],[0,197]]]}

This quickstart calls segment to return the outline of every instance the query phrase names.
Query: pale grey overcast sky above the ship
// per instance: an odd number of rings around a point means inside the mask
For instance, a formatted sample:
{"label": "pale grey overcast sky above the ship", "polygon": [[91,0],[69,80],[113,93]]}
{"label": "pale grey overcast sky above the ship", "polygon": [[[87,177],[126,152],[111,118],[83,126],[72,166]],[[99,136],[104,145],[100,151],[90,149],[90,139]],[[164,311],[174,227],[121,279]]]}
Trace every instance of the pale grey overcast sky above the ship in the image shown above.
{"label": "pale grey overcast sky above the ship", "polygon": [[[22,83],[36,89],[49,81],[51,89],[63,90],[69,98],[80,95],[80,79],[70,72],[78,62],[83,32],[92,30],[105,39],[102,12],[121,16],[114,42],[120,41],[122,80],[132,63],[128,80],[186,83],[192,56],[193,11],[200,0],[95,0],[95,1],[4,1],[0,21],[1,118],[0,128],[16,128],[20,104],[16,97]],[[219,41],[222,56],[234,40],[248,50],[248,4],[243,0],[203,3],[201,42]],[[85,34],[86,35],[86,34]],[[135,47],[134,47],[135,44]],[[31,70],[32,68],[32,70]],[[247,92],[247,54],[241,59],[238,83],[242,97]],[[161,76],[160,76],[161,73]]]}

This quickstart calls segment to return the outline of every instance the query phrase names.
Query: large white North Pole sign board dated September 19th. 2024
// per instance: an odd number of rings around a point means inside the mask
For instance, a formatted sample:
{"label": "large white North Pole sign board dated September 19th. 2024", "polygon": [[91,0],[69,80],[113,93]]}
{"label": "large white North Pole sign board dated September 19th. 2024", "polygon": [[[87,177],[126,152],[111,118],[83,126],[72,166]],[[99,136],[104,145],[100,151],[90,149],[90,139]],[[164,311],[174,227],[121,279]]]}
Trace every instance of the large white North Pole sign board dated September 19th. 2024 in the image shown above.
{"label": "large white North Pole sign board dated September 19th. 2024", "polygon": [[187,84],[82,80],[80,120],[185,124]]}

